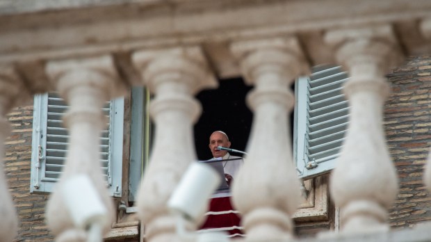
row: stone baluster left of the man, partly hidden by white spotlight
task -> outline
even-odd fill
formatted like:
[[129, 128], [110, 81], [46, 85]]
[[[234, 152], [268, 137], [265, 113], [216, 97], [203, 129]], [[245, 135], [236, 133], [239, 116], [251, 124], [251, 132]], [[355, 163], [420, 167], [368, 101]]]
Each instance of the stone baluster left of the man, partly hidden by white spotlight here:
[[[133, 63], [155, 95], [150, 115], [156, 132], [154, 147], [138, 192], [138, 216], [147, 240], [175, 241], [175, 218], [166, 206], [190, 162], [196, 160], [193, 123], [201, 113], [193, 94], [217, 81], [198, 47], [139, 51]], [[196, 227], [190, 224], [190, 229]]]

